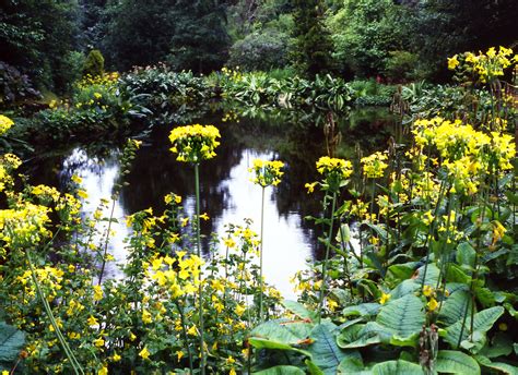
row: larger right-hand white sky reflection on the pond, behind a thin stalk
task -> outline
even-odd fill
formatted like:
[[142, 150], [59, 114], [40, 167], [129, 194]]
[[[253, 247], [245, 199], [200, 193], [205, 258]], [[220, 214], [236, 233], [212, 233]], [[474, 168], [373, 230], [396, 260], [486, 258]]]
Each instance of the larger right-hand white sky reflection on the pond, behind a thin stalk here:
[[[228, 186], [231, 196], [229, 207], [217, 218], [220, 237], [224, 234], [225, 223], [243, 225], [245, 218], [252, 219], [252, 229], [260, 232], [261, 188], [250, 181], [248, 168], [252, 159], [272, 159], [272, 156], [245, 149], [240, 162], [231, 170], [229, 178], [221, 182], [221, 186]], [[310, 245], [301, 229], [301, 216], [293, 213], [281, 218], [274, 199], [272, 188], [267, 188], [262, 271], [267, 282], [275, 286], [285, 298], [293, 299], [293, 286], [289, 279], [305, 268], [305, 259], [311, 254]]]

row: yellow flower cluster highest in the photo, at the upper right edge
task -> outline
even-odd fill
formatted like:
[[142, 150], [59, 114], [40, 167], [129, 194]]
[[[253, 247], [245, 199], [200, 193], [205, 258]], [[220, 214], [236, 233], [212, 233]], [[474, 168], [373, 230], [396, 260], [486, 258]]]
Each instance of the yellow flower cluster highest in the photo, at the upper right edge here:
[[[464, 62], [463, 64], [459, 58]], [[501, 46], [498, 52], [495, 47], [491, 47], [485, 53], [464, 52], [448, 58], [448, 69], [466, 69], [476, 74], [482, 83], [487, 83], [504, 75], [504, 70], [516, 62], [518, 62], [518, 56], [513, 53], [513, 49]]]

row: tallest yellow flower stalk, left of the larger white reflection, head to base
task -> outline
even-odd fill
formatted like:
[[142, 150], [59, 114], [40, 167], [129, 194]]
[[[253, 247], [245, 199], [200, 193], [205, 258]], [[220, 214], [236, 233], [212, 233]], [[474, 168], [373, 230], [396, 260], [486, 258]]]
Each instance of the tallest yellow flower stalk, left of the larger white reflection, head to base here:
[[[201, 258], [201, 234], [200, 234], [200, 162], [212, 159], [215, 156], [214, 149], [220, 142], [220, 131], [214, 125], [187, 125], [173, 129], [169, 141], [173, 144], [170, 150], [178, 154], [177, 160], [190, 162], [195, 167], [195, 190], [196, 190], [196, 252]], [[203, 327], [203, 273], [200, 270], [199, 278], [199, 328], [200, 328], [200, 371], [205, 373], [207, 355]]]

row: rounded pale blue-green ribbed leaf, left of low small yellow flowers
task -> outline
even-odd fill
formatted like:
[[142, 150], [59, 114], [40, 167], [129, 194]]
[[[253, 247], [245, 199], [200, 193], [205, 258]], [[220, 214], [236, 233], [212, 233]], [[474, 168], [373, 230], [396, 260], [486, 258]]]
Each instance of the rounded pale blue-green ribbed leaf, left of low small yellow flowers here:
[[405, 338], [419, 334], [425, 318], [423, 302], [413, 294], [407, 294], [382, 306], [376, 323]]

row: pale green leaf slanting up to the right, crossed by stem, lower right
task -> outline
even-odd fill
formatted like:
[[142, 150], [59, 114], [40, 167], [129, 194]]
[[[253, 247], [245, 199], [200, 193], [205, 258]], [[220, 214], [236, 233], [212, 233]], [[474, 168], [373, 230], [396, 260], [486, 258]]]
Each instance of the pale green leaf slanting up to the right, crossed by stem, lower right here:
[[[493, 327], [493, 324], [504, 314], [504, 307], [495, 306], [491, 309], [486, 309], [476, 313], [474, 315], [473, 320], [473, 332], [479, 332], [481, 335], [485, 334]], [[463, 318], [459, 319], [454, 325], [446, 328], [445, 340], [452, 347], [457, 348], [459, 343], [460, 332], [462, 330], [462, 320]], [[470, 328], [471, 328], [471, 317], [468, 317], [464, 323], [464, 328], [462, 330], [462, 337], [460, 341], [463, 341], [470, 336]], [[478, 337], [481, 335], [473, 335], [473, 340], [478, 340]]]

